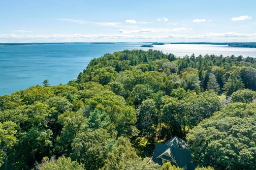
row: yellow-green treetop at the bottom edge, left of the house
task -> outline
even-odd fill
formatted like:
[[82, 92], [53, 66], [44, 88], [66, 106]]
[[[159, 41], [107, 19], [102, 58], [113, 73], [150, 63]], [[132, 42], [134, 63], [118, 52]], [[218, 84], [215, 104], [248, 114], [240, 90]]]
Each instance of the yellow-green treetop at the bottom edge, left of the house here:
[[85, 170], [83, 164], [77, 161], [71, 161], [69, 157], [60, 157], [57, 160], [54, 158], [44, 158], [40, 165], [36, 166], [37, 170]]

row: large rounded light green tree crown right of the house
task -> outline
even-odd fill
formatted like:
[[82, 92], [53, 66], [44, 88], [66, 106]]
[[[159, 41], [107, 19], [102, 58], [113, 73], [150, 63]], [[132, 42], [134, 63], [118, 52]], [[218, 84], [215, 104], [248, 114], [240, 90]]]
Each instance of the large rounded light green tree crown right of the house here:
[[256, 105], [233, 103], [188, 134], [192, 157], [215, 169], [256, 169]]

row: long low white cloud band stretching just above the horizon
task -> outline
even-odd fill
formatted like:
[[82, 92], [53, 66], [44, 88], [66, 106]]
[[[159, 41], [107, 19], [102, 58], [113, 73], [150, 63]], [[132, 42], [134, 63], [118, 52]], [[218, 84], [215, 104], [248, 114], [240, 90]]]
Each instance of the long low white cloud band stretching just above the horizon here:
[[256, 33], [243, 34], [237, 32], [224, 33], [207, 33], [199, 35], [179, 35], [179, 34], [164, 34], [164, 35], [147, 35], [147, 34], [51, 34], [51, 35], [17, 35], [17, 34], [0, 34], [0, 39], [22, 39], [22, 40], [79, 40], [86, 41], [91, 39], [229, 39], [229, 40], [256, 40]]

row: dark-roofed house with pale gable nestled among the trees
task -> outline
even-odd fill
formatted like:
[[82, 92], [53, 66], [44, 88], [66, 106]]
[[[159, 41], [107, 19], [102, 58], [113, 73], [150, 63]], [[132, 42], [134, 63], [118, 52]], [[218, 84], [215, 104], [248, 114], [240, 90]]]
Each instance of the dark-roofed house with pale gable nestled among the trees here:
[[158, 142], [153, 153], [152, 161], [159, 165], [165, 162], [171, 162], [172, 165], [183, 168], [183, 170], [194, 170], [196, 167], [191, 163], [188, 145], [177, 136], [174, 136], [165, 143]]

